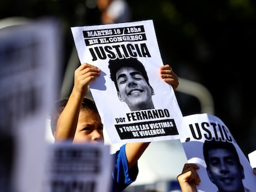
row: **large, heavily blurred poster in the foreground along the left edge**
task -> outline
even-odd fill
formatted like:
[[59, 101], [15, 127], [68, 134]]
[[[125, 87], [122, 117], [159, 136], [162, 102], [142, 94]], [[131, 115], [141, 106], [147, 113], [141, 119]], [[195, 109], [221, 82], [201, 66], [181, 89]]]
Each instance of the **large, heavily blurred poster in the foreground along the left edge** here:
[[59, 38], [54, 19], [0, 28], [0, 191], [41, 191]]

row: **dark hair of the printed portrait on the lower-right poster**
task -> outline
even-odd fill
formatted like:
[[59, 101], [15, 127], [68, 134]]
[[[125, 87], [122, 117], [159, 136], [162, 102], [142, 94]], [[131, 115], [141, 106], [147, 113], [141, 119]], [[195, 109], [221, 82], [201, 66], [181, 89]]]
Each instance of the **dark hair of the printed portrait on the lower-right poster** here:
[[205, 143], [203, 143], [203, 156], [205, 158], [205, 163], [207, 164], [207, 167], [209, 166], [208, 151], [211, 149], [227, 149], [228, 151], [234, 154], [235, 160], [237, 161], [239, 166], [242, 167], [241, 162], [239, 160], [239, 156], [233, 143], [230, 143], [228, 141], [205, 140]]

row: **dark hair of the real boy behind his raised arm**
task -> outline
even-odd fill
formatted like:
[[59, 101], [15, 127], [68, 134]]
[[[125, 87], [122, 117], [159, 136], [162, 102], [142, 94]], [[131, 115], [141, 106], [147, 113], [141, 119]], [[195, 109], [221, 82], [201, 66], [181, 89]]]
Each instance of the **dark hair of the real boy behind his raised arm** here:
[[[61, 115], [61, 112], [63, 111], [64, 107], [67, 104], [67, 101], [69, 101], [69, 98], [58, 99], [54, 103], [54, 112], [51, 115], [51, 133], [53, 133], [53, 135], [54, 135], [54, 132], [56, 131], [59, 115]], [[98, 109], [95, 105], [95, 102], [92, 99], [87, 97], [83, 98], [83, 102], [80, 107], [80, 110], [87, 110], [87, 111], [93, 111], [95, 113], [98, 113]]]

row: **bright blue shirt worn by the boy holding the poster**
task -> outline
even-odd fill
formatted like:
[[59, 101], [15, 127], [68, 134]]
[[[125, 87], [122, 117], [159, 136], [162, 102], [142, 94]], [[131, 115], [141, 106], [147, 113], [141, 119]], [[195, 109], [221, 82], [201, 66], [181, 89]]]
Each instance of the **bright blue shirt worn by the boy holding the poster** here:
[[122, 145], [119, 151], [111, 154], [111, 156], [114, 158], [112, 192], [120, 192], [136, 180], [139, 173], [138, 164], [136, 162], [130, 170], [128, 169], [126, 144]]

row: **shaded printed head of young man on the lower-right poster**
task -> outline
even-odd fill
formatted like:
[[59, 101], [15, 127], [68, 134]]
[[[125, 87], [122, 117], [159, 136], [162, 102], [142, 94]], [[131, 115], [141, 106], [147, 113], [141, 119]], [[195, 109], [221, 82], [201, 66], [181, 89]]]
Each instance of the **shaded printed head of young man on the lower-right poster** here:
[[208, 177], [218, 191], [245, 191], [244, 168], [232, 143], [205, 141], [203, 150]]

